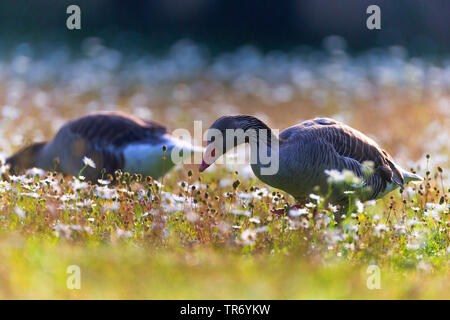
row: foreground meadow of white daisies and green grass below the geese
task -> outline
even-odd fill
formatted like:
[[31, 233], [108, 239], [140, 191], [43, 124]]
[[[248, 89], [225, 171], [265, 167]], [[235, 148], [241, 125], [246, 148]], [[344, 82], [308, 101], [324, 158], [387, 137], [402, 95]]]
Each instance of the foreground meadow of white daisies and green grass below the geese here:
[[[230, 177], [239, 183], [219, 184]], [[274, 215], [288, 195], [223, 169], [199, 180], [181, 168], [162, 187], [127, 174], [104, 189], [74, 190], [59, 175], [14, 180], [5, 175], [0, 193], [1, 299], [450, 297], [448, 187], [437, 170], [342, 225], [313, 199], [307, 215]], [[80, 290], [66, 286], [70, 265]], [[370, 265], [381, 289], [367, 287]]]

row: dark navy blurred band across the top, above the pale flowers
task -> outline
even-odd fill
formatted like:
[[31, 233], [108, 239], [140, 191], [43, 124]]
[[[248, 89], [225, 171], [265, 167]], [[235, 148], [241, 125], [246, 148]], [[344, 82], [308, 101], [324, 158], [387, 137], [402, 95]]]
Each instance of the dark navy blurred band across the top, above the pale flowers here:
[[[82, 10], [82, 29], [65, 28], [67, 6]], [[365, 28], [369, 5], [382, 11], [382, 28]], [[17, 0], [0, 4], [2, 42], [79, 44], [100, 37], [107, 45], [162, 51], [180, 38], [207, 44], [212, 52], [256, 45], [264, 50], [321, 46], [337, 34], [349, 50], [401, 45], [412, 53], [450, 48], [446, 0]]]

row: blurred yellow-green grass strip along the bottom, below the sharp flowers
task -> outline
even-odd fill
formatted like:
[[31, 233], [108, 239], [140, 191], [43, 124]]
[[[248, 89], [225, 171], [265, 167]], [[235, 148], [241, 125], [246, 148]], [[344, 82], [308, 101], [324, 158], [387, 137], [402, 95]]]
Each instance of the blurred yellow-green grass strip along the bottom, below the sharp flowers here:
[[[2, 299], [444, 299], [449, 292], [442, 270], [392, 272], [386, 265], [381, 268], [381, 289], [369, 290], [366, 266], [339, 259], [322, 265], [299, 254], [16, 243], [21, 240], [2, 241], [2, 246], [14, 244], [2, 248]], [[81, 268], [80, 290], [66, 288], [71, 264]]]

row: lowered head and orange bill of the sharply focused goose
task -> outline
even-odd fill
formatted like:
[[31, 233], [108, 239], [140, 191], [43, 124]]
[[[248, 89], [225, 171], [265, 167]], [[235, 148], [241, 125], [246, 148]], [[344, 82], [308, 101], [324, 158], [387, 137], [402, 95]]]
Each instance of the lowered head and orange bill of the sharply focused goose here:
[[270, 128], [253, 116], [223, 116], [217, 119], [206, 132], [207, 145], [199, 167], [200, 172], [206, 170], [227, 151], [257, 139], [260, 129], [267, 130], [270, 136]]

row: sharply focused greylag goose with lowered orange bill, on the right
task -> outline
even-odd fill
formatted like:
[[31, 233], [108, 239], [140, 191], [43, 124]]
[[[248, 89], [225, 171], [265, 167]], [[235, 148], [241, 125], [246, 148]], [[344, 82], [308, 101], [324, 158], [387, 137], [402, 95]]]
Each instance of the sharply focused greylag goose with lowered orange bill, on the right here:
[[[225, 142], [228, 138], [215, 139], [217, 135], [214, 132], [226, 137], [227, 133], [229, 135], [239, 129], [244, 133], [244, 139], [233, 139], [231, 143]], [[328, 202], [348, 203], [346, 190], [337, 187], [330, 189], [330, 174], [333, 172], [347, 170], [360, 178], [359, 185], [347, 187], [364, 190], [359, 194], [364, 201], [381, 198], [396, 188], [403, 188], [410, 181], [422, 180], [420, 176], [395, 164], [393, 158], [375, 141], [329, 118], [304, 121], [285, 129], [276, 137], [265, 123], [253, 116], [224, 116], [212, 124], [207, 135], [209, 141], [200, 172], [228, 150], [248, 142], [252, 159], [254, 153], [258, 154], [251, 163], [254, 174], [264, 183], [291, 194], [299, 203], [304, 203], [317, 190], [327, 195]], [[268, 155], [277, 157], [278, 168], [273, 174], [262, 173], [262, 169], [267, 167], [267, 162], [260, 159], [260, 155], [264, 154], [260, 150], [262, 147], [266, 148], [264, 152]]]

